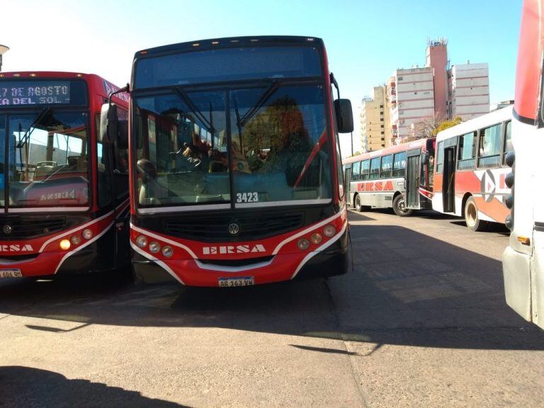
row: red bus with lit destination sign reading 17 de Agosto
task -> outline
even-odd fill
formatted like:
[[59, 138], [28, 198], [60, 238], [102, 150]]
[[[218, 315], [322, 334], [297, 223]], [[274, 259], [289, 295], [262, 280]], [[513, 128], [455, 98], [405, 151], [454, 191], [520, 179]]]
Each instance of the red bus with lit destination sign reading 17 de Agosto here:
[[[96, 137], [115, 89], [92, 74], [0, 73], [0, 277], [109, 271], [130, 259], [128, 151]], [[126, 123], [128, 95], [115, 102]]]

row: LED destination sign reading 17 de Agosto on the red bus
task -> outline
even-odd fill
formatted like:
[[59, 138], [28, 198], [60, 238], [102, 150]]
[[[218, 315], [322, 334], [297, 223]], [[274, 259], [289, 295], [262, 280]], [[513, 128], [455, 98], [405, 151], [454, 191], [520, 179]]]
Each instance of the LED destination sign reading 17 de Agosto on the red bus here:
[[0, 106], [69, 105], [70, 81], [0, 81]]

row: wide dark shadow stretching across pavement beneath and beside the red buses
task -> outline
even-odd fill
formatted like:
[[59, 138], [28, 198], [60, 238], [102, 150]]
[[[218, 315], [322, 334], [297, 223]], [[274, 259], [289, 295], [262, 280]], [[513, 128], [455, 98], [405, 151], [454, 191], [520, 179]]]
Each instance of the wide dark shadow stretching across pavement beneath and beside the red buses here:
[[41, 318], [22, 324], [58, 336], [95, 324], [212, 327], [378, 348], [544, 350], [543, 331], [506, 305], [500, 261], [395, 225], [352, 225], [351, 236], [345, 276], [246, 288], [19, 280], [0, 285], [0, 314]]

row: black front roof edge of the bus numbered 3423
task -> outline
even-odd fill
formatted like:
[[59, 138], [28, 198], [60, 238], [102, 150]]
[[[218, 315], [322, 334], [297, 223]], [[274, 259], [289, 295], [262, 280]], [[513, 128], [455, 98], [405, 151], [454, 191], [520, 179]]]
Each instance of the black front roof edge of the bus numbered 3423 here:
[[208, 40], [195, 40], [189, 42], [178, 42], [177, 44], [162, 45], [160, 47], [148, 48], [136, 52], [135, 58], [150, 54], [159, 54], [169, 51], [181, 50], [210, 50], [214, 47], [241, 47], [250, 45], [256, 47], [259, 45], [285, 45], [292, 44], [317, 44], [323, 47], [323, 40], [317, 37], [302, 37], [297, 35], [255, 35], [253, 37], [227, 37], [227, 38], [210, 38]]

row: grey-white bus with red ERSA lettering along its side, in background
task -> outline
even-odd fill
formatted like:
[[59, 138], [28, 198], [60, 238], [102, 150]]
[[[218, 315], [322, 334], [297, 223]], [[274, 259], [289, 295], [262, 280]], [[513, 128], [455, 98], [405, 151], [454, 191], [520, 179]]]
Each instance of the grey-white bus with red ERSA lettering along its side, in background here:
[[392, 208], [400, 217], [431, 209], [435, 140], [419, 139], [344, 159], [348, 203]]

